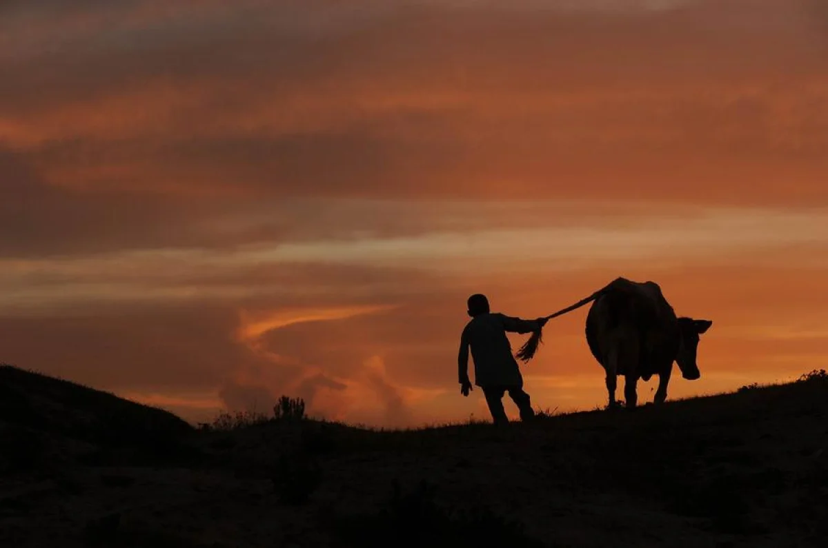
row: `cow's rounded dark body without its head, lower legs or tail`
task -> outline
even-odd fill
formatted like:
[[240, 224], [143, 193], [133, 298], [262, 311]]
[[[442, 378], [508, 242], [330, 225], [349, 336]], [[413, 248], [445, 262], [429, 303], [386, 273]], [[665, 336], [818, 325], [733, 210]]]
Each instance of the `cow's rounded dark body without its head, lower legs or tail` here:
[[590, 306], [586, 340], [590, 352], [604, 367], [609, 345], [618, 340], [619, 334], [638, 339], [638, 371], [643, 377], [672, 367], [678, 349], [676, 313], [655, 282], [618, 278]]

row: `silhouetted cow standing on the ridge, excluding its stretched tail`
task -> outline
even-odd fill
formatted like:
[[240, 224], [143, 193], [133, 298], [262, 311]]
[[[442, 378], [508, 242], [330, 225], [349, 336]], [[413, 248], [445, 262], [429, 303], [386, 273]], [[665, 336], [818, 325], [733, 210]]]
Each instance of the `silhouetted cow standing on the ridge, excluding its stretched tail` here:
[[606, 372], [610, 407], [617, 406], [615, 388], [619, 375], [624, 377], [628, 409], [633, 409], [638, 401], [639, 378], [647, 382], [652, 375], [658, 375], [653, 402], [661, 404], [667, 399], [673, 362], [687, 380], [701, 376], [696, 364], [699, 339], [713, 322], [676, 317], [657, 283], [619, 277], [588, 300], [593, 303], [586, 317], [586, 341]]

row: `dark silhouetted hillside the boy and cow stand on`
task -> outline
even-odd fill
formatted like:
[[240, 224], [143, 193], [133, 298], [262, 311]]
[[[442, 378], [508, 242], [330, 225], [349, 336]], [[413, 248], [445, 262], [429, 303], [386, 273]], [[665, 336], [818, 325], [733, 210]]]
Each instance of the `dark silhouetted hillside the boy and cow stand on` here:
[[[65, 407], [13, 425], [18, 445], [4, 440], [2, 546], [724, 548], [823, 546], [828, 534], [824, 372], [633, 412], [400, 431], [290, 414], [190, 430], [111, 395], [83, 392], [84, 403], [55, 396], [54, 379], [26, 378], [14, 390], [27, 412]], [[12, 403], [0, 406], [9, 421]], [[141, 417], [124, 429], [164, 421], [176, 435], [120, 452], [107, 436], [75, 437], [87, 430], [71, 417], [118, 406]], [[59, 443], [79, 445], [64, 459], [36, 457]]]

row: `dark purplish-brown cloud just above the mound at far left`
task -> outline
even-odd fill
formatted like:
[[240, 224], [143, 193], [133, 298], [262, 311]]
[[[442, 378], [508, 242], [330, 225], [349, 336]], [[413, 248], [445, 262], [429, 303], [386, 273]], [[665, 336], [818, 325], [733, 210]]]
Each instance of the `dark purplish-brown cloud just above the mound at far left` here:
[[232, 368], [262, 363], [233, 341], [234, 320], [204, 304], [4, 315], [2, 360], [128, 392], [214, 389]]

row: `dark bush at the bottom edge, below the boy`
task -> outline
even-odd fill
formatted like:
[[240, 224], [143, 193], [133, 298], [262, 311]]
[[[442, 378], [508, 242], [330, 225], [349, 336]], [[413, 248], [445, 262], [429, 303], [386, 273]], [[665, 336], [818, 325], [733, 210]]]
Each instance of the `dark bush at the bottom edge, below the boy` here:
[[426, 480], [408, 492], [395, 480], [377, 513], [335, 518], [337, 546], [544, 546], [527, 536], [520, 522], [485, 506], [446, 508], [437, 502], [436, 493], [436, 486]]

